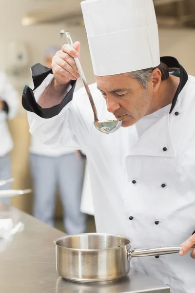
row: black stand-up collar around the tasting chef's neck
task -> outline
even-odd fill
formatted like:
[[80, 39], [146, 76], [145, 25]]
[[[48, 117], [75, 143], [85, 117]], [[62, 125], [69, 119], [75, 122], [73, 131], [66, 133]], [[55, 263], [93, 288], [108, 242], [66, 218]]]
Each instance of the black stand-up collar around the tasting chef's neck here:
[[179, 62], [176, 60], [176, 58], [174, 58], [174, 57], [169, 57], [169, 56], [161, 57], [160, 61], [162, 61], [163, 63], [165, 63], [169, 67], [169, 71], [171, 71], [171, 69], [173, 69], [173, 70], [179, 69], [180, 70], [180, 82], [177, 87], [176, 94], [175, 94], [173, 101], [172, 101], [171, 110], [169, 112], [169, 113], [171, 113], [176, 105], [178, 95], [180, 94], [181, 90], [183, 89], [183, 87], [185, 86], [185, 84], [188, 81], [188, 74], [185, 71], [185, 69], [183, 68], [183, 66], [181, 66], [179, 64]]

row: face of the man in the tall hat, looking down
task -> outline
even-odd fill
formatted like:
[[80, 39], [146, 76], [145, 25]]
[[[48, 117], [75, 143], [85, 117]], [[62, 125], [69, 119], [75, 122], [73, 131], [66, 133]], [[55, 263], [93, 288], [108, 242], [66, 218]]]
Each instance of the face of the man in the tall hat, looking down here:
[[153, 71], [147, 88], [143, 88], [130, 74], [96, 76], [98, 89], [106, 101], [108, 111], [117, 119], [124, 118], [123, 127], [131, 126], [151, 113], [153, 96], [161, 80], [161, 75], [156, 70], [158, 69]]

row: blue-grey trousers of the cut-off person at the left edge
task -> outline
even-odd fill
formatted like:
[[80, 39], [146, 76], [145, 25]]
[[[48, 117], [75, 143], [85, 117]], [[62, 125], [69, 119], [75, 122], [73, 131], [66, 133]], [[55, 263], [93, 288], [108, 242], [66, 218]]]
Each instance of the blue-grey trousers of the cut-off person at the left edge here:
[[[11, 170], [11, 159], [10, 159], [10, 155], [7, 154], [3, 157], [0, 157], [0, 180], [3, 179], [9, 179], [12, 177], [12, 170]], [[7, 183], [3, 186], [0, 186], [0, 190], [5, 190], [5, 189], [11, 189], [12, 188], [12, 184], [11, 183]], [[10, 204], [11, 203], [11, 198], [7, 197], [7, 198], [1, 198], [0, 199], [1, 202], [5, 203], [5, 204]]]

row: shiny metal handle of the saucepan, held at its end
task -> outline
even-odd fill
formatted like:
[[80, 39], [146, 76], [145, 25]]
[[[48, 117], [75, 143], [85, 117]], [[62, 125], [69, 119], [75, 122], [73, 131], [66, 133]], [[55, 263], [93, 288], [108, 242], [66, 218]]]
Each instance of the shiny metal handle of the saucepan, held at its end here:
[[[191, 250], [194, 250], [194, 249], [195, 247], [191, 248]], [[135, 249], [135, 250], [130, 249], [127, 251], [127, 255], [129, 257], [155, 256], [155, 255], [178, 253], [180, 250], [181, 250], [181, 246], [145, 248], [145, 249]]]

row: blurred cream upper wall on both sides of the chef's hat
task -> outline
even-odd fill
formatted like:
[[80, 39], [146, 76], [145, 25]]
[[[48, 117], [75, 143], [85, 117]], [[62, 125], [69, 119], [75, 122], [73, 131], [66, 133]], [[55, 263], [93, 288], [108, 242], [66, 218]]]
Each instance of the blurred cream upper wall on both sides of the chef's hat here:
[[[30, 65], [42, 63], [45, 49], [50, 45], [61, 46], [66, 39], [60, 39], [59, 31], [67, 28], [64, 23], [52, 23], [22, 27], [21, 18], [29, 10], [42, 6], [44, 1], [38, 0], [0, 0], [0, 68], [5, 68], [7, 46], [10, 41], [25, 42], [29, 49]], [[68, 28], [73, 41], [81, 42], [81, 61], [89, 83], [94, 76], [89, 56], [86, 32], [83, 27]], [[161, 56], [172, 55], [190, 74], [195, 74], [195, 30], [159, 29]], [[26, 77], [28, 80], [29, 77]]]

